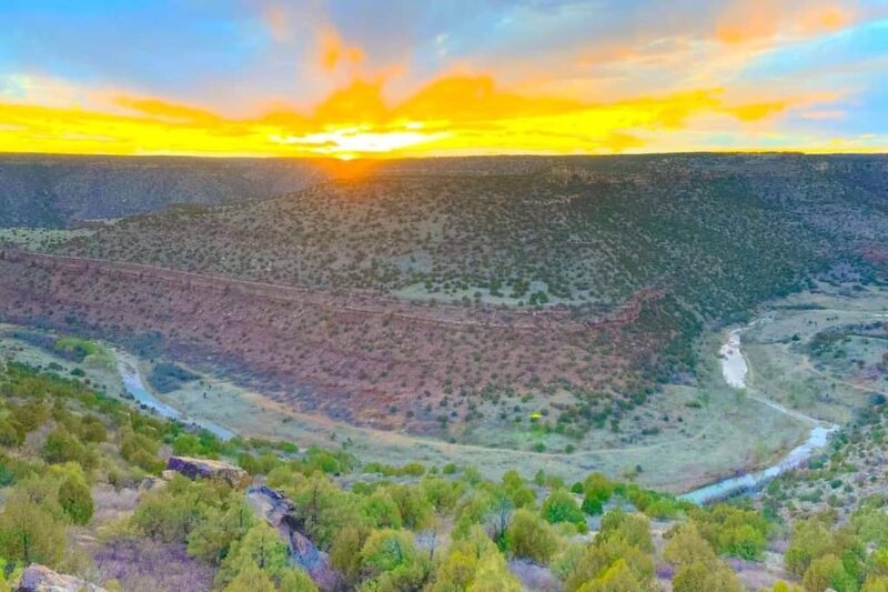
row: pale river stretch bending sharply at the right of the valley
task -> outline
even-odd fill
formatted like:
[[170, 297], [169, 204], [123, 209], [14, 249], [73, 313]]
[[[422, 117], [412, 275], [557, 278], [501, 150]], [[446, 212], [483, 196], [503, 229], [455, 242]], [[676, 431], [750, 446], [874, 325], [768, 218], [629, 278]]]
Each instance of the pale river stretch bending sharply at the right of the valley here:
[[[749, 370], [746, 358], [740, 348], [740, 335], [745, 329], [735, 329], [728, 333], [727, 341], [718, 353], [722, 357], [722, 375], [730, 387], [735, 389], [746, 389], [746, 374]], [[797, 420], [813, 424], [808, 439], [797, 445], [784, 456], [780, 462], [767, 469], [731, 476], [722, 481], [716, 481], [703, 488], [685, 493], [680, 498], [694, 503], [704, 504], [717, 500], [724, 500], [745, 491], [755, 491], [780, 473], [800, 466], [808, 461], [817, 451], [826, 446], [829, 434], [838, 430], [838, 425], [826, 425], [823, 422], [809, 418], [804, 413], [787, 409], [779, 403], [768, 399], [754, 397], [754, 399], [771, 409], [785, 413]]]

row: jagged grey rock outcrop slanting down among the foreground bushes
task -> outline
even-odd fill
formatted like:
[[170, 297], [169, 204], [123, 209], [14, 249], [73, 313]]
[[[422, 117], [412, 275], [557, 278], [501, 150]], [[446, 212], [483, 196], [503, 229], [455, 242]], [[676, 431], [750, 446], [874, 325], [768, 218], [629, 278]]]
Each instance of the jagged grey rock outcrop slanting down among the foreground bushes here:
[[320, 589], [333, 590], [336, 586], [339, 575], [330, 564], [330, 556], [300, 532], [302, 523], [290, 500], [279, 491], [262, 485], [250, 488], [246, 501], [256, 515], [278, 530], [294, 565], [305, 570]]

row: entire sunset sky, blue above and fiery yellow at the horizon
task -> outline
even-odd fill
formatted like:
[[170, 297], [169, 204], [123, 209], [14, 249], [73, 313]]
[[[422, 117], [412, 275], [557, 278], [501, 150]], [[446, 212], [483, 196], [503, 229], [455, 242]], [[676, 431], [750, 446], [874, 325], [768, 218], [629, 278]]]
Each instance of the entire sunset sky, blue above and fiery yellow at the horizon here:
[[2, 0], [0, 151], [888, 152], [888, 0]]

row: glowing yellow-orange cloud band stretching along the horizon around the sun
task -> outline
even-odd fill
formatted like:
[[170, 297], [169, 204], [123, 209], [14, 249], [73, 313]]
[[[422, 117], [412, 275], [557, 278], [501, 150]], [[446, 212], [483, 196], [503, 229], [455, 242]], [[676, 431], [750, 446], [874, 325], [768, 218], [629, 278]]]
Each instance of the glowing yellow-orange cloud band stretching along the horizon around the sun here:
[[748, 124], [824, 102], [726, 103], [719, 88], [587, 102], [517, 93], [491, 76], [438, 78], [394, 102], [383, 90], [383, 80], [355, 81], [310, 111], [278, 109], [243, 119], [120, 92], [97, 93], [113, 100], [91, 109], [0, 102], [0, 151], [342, 159], [615, 153], [700, 133], [694, 126], [702, 120]]

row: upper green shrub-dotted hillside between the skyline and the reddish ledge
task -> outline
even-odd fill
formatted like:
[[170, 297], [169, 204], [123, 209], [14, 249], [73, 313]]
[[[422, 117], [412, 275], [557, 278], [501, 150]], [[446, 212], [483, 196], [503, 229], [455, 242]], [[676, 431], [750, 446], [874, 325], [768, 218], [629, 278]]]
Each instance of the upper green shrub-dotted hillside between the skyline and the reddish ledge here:
[[478, 160], [137, 217], [62, 251], [438, 301], [613, 304], [656, 288], [706, 319], [817, 273], [868, 279], [888, 254], [881, 157]]

